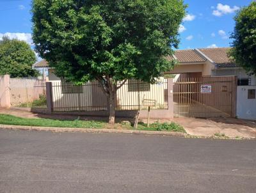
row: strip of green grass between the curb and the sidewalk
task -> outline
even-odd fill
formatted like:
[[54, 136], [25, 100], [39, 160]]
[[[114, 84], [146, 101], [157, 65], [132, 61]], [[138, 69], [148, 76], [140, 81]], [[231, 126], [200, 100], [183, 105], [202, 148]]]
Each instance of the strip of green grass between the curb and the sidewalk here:
[[[69, 127], [69, 128], [109, 128], [108, 123], [104, 121], [63, 121], [51, 119], [33, 119], [33, 118], [20, 118], [9, 114], [0, 114], [0, 124], [3, 125], [24, 125], [24, 126], [37, 126], [37, 127]], [[114, 128], [129, 129], [134, 128], [131, 125], [122, 125], [117, 123]], [[138, 123], [138, 130], [152, 130], [152, 131], [170, 131], [170, 132], [184, 132], [184, 128], [177, 123], [152, 123], [147, 127], [145, 123]]]

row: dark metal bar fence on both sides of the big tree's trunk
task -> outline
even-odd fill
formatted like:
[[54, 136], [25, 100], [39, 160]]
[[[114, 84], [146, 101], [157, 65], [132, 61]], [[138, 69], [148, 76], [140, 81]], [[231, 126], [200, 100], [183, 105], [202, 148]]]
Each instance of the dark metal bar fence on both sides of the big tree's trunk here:
[[[53, 111], [106, 111], [108, 100], [101, 87], [97, 81], [82, 86], [54, 81], [52, 82]], [[156, 84], [133, 80], [125, 82], [117, 91], [116, 110], [138, 110], [143, 98], [156, 102], [152, 109], [168, 109], [167, 79], [159, 79]]]

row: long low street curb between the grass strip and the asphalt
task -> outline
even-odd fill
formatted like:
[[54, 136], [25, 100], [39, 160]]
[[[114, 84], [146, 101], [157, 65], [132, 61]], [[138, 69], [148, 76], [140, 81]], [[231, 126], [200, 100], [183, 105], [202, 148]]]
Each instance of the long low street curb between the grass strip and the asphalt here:
[[10, 130], [34, 130], [49, 132], [80, 132], [80, 133], [108, 133], [108, 134], [145, 134], [145, 135], [166, 135], [173, 137], [186, 137], [188, 134], [182, 132], [161, 132], [147, 130], [118, 130], [106, 128], [64, 128], [64, 127], [34, 127], [21, 125], [0, 125], [0, 129]]

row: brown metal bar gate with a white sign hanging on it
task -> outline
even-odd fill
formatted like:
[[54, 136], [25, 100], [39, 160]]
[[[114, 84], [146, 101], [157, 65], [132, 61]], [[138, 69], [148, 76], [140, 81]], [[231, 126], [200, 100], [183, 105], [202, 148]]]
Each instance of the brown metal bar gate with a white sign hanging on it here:
[[234, 115], [236, 77], [188, 77], [173, 84], [175, 117], [214, 118]]

